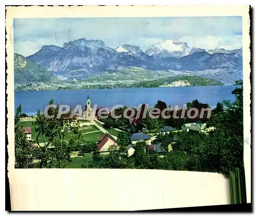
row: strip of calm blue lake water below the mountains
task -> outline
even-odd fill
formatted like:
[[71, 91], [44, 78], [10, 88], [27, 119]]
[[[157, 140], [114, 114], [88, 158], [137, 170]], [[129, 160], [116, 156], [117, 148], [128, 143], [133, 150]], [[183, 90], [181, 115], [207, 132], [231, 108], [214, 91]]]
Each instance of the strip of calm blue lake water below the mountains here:
[[91, 104], [98, 107], [112, 107], [122, 104], [127, 107], [138, 107], [139, 104], [154, 106], [158, 100], [167, 105], [182, 106], [197, 99], [201, 103], [216, 106], [223, 100], [234, 101], [231, 91], [233, 85], [165, 87], [165, 88], [116, 88], [116, 89], [79, 89], [52, 91], [18, 91], [14, 93], [15, 109], [22, 104], [22, 111], [32, 115], [41, 111], [54, 99], [54, 104], [68, 104], [74, 108], [77, 104], [86, 104], [89, 92]]

